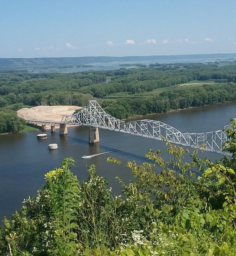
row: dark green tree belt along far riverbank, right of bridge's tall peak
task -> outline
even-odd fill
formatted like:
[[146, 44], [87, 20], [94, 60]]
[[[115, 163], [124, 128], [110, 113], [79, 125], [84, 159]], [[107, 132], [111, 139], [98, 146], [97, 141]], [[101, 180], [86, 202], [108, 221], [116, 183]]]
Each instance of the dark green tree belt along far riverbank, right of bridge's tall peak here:
[[163, 113], [171, 110], [213, 105], [236, 100], [236, 84], [203, 85], [174, 89], [158, 96], [119, 99], [115, 103], [106, 101], [102, 107], [119, 119], [149, 113]]

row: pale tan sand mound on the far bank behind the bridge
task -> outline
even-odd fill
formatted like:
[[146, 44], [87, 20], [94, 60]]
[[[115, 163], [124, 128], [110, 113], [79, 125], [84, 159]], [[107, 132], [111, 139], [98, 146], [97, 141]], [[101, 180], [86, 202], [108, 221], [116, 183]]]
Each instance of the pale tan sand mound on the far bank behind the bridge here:
[[72, 115], [78, 106], [37, 106], [33, 108], [21, 108], [17, 116], [28, 120], [60, 121], [63, 116]]

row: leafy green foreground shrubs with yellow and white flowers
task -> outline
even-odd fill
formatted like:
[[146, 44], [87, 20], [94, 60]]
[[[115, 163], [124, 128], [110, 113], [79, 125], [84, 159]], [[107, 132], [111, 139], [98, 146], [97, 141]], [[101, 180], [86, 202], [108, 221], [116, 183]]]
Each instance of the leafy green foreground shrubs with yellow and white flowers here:
[[134, 179], [125, 184], [117, 178], [123, 192], [114, 198], [94, 165], [79, 183], [70, 171], [74, 161], [64, 159], [45, 175], [35, 197], [4, 218], [0, 255], [235, 256], [236, 119], [231, 121], [224, 151], [232, 158], [212, 163], [194, 151], [186, 163], [188, 150], [167, 143], [168, 162], [150, 149], [146, 163], [127, 163]]

